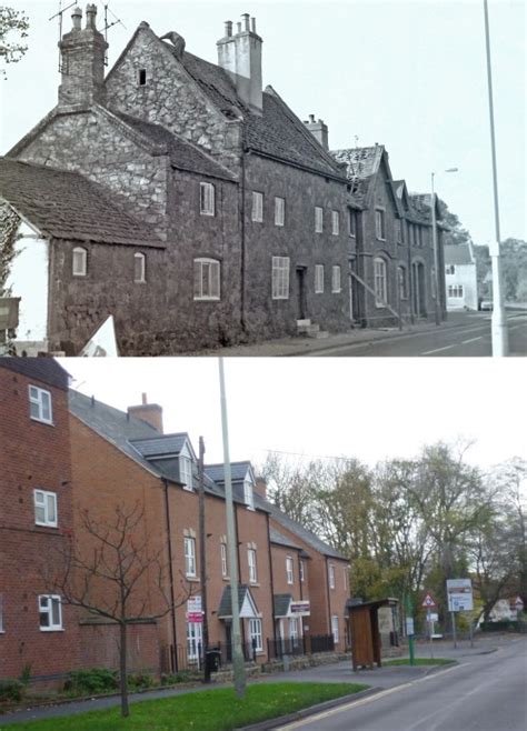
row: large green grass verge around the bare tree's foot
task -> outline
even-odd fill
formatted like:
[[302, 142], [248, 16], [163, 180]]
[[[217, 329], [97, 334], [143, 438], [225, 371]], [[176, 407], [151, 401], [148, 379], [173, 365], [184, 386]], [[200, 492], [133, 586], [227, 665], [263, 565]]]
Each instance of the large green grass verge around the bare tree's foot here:
[[261, 683], [248, 687], [242, 700], [236, 698], [231, 688], [221, 688], [132, 703], [128, 719], [121, 719], [120, 709], [112, 708], [1, 728], [2, 731], [229, 731], [366, 688], [358, 683]]

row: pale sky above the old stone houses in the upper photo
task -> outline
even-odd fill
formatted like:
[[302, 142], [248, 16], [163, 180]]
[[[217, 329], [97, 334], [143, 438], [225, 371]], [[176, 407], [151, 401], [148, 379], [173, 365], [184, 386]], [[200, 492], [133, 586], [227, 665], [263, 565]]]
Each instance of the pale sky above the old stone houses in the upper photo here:
[[[474, 241], [495, 239], [483, 0], [105, 2], [126, 26], [108, 31], [110, 68], [141, 20], [217, 62], [223, 21], [255, 16], [264, 83], [301, 119], [324, 119], [331, 149], [385, 144], [410, 191], [428, 191], [436, 172], [436, 191]], [[28, 53], [0, 81], [1, 154], [52, 109], [60, 81], [58, 20], [49, 20], [59, 0], [3, 4], [23, 9], [31, 30]], [[489, 0], [489, 19], [501, 240], [525, 240], [525, 3]]]

